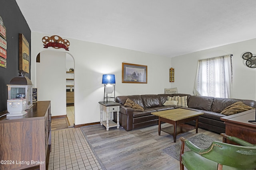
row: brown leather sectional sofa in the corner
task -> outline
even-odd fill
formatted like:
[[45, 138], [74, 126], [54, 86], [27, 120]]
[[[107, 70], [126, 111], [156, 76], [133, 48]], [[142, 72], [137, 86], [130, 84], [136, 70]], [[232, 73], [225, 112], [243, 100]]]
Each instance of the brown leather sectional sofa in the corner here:
[[[187, 96], [188, 107], [180, 106], [163, 106], [168, 96]], [[133, 111], [130, 107], [125, 107], [124, 103], [127, 99], [134, 101], [144, 108], [144, 111]], [[244, 104], [255, 107], [254, 100], [240, 100], [240, 99], [226, 99], [214, 98], [208, 96], [191, 96], [190, 94], [146, 94], [146, 95], [132, 95], [132, 96], [117, 96], [116, 102], [122, 104], [120, 106], [119, 121], [120, 125], [126, 130], [146, 127], [148, 125], [158, 124], [158, 117], [152, 115], [151, 112], [162, 111], [167, 109], [183, 108], [203, 112], [198, 121], [198, 127], [214, 131], [216, 133], [225, 133], [225, 124], [220, 120], [220, 117], [226, 115], [220, 112], [226, 107], [235, 102], [242, 101]], [[116, 116], [114, 114], [114, 120]], [[194, 121], [188, 122], [195, 125]]]

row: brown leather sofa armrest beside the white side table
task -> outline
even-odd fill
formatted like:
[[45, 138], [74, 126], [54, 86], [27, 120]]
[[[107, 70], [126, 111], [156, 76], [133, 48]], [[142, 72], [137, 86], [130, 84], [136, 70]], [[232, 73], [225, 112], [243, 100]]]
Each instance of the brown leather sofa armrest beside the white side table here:
[[126, 131], [132, 130], [133, 110], [131, 107], [120, 106], [119, 123]]

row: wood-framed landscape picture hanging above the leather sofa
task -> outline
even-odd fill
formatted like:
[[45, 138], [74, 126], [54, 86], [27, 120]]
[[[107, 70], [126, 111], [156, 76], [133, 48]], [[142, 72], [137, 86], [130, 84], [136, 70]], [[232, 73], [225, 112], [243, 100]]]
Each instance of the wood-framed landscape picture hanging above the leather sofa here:
[[122, 83], [148, 83], [148, 66], [122, 63]]

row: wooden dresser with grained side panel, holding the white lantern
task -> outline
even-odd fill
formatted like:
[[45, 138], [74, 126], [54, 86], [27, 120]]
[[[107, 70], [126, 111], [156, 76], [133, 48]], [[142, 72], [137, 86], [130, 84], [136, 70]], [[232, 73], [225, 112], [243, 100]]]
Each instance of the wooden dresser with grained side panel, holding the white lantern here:
[[[51, 150], [50, 101], [38, 101], [24, 116], [0, 117], [0, 169], [48, 168]], [[3, 111], [0, 116], [8, 113]]]

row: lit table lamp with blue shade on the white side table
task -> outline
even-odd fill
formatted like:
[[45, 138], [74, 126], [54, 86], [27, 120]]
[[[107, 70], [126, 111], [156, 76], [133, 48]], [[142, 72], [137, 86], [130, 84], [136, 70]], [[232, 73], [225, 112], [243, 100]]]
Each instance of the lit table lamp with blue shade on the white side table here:
[[[108, 99], [115, 98], [115, 85], [116, 79], [114, 74], [103, 74], [102, 76], [102, 84], [104, 84], [104, 101], [105, 99], [108, 102]], [[108, 94], [112, 94], [114, 92], [114, 97], [108, 97]], [[105, 97], [106, 94], [106, 97]]]

